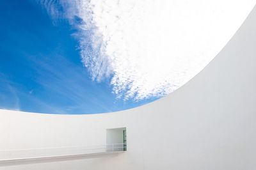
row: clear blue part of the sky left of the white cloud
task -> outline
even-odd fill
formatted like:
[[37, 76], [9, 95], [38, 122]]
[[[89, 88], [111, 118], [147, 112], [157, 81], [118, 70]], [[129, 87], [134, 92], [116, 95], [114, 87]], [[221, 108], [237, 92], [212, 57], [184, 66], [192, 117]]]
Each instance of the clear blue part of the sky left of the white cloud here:
[[76, 27], [67, 19], [52, 19], [40, 3], [3, 0], [0, 22], [1, 109], [92, 114], [156, 99], [123, 100], [112, 93], [111, 77], [92, 81], [73, 36]]

